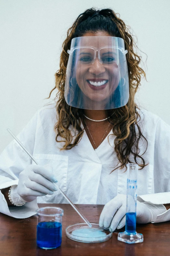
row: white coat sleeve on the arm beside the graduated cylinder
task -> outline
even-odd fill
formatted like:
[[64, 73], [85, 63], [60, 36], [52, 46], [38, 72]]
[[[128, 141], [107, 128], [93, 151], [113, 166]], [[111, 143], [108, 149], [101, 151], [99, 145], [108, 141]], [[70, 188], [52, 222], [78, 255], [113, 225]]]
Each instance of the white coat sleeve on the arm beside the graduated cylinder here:
[[[154, 185], [155, 194], [138, 196], [140, 202], [156, 205], [160, 214], [152, 223], [169, 221], [170, 209], [166, 210], [163, 204], [170, 203], [170, 126], [159, 119], [154, 146]], [[164, 208], [164, 210], [163, 210]]]

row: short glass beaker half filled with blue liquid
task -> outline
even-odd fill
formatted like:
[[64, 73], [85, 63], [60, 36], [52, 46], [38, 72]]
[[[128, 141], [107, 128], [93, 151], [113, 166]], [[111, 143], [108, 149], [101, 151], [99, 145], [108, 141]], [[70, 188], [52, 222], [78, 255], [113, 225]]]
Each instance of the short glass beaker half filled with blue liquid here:
[[36, 210], [36, 244], [43, 249], [54, 249], [62, 242], [62, 216], [64, 210], [59, 207], [43, 207]]

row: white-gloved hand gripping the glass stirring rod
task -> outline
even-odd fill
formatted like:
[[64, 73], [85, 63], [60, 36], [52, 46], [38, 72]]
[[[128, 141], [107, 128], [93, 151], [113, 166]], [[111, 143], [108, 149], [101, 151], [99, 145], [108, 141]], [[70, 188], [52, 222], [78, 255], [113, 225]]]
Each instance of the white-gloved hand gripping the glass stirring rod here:
[[51, 165], [30, 164], [19, 175], [17, 193], [24, 202], [31, 202], [37, 196], [52, 195], [57, 190], [52, 182], [57, 179]]

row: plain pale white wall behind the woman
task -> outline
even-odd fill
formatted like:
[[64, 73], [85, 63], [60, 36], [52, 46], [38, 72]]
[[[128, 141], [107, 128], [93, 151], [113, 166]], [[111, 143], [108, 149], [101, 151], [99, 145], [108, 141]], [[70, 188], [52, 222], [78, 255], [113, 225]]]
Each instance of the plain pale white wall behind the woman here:
[[148, 55], [136, 101], [170, 125], [169, 0], [0, 0], [0, 152], [12, 140], [6, 129], [18, 134], [49, 102], [66, 31], [91, 7], [112, 8], [131, 26]]

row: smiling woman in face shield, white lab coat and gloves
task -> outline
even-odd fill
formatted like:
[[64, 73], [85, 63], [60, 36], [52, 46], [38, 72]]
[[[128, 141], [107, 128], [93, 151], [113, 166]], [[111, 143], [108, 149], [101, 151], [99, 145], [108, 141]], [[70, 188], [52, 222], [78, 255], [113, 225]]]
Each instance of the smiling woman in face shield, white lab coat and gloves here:
[[170, 128], [134, 102], [145, 77], [134, 47], [111, 9], [78, 16], [55, 74], [57, 103], [37, 111], [18, 137], [39, 164], [15, 141], [1, 154], [2, 213], [24, 218], [35, 214], [37, 202], [67, 203], [52, 183], [58, 180], [73, 203], [106, 204], [100, 226], [121, 228], [126, 164], [134, 162], [140, 166], [136, 221], [170, 220]]

